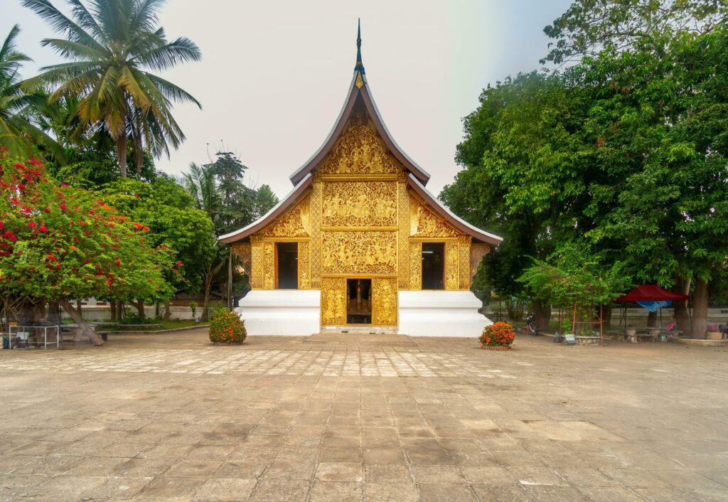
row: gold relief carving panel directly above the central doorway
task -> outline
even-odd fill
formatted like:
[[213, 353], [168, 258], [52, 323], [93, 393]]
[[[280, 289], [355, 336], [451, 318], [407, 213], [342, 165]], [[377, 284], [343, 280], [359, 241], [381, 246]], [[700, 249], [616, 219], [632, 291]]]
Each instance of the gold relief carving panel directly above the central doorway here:
[[395, 232], [322, 232], [321, 268], [328, 273], [397, 271]]

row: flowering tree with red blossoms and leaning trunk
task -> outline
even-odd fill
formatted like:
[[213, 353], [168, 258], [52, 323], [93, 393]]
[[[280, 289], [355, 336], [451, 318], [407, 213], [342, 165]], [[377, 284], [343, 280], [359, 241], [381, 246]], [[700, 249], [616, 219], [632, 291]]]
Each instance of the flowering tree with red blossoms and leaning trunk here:
[[46, 177], [41, 162], [15, 162], [0, 152], [0, 291], [29, 305], [58, 302], [96, 345], [74, 299], [173, 294], [176, 269], [167, 246], [151, 246], [149, 227], [131, 221], [92, 192]]

